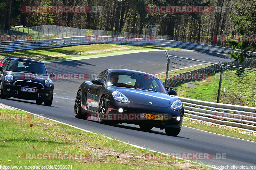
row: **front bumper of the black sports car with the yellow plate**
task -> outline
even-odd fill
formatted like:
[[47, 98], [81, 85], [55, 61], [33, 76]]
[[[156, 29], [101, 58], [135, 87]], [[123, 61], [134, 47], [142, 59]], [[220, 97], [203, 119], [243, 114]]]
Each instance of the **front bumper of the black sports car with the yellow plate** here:
[[[181, 129], [184, 110], [173, 110], [171, 107], [156, 107], [148, 105], [126, 105], [124, 103], [115, 102], [114, 106], [110, 106], [108, 103], [106, 120], [116, 123], [128, 123], [137, 125], [151, 125], [156, 128], [164, 129], [165, 127], [179, 128]], [[123, 109], [120, 113], [119, 108]], [[163, 120], [151, 120], [141, 117], [141, 113], [151, 115], [161, 115]], [[118, 117], [119, 116], [119, 117]], [[180, 120], [177, 120], [180, 117]]]

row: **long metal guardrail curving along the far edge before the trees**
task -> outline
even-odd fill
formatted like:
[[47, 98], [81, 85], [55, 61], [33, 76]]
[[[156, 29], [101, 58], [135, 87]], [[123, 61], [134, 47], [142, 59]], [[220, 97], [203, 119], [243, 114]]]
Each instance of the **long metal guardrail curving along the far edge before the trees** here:
[[[84, 44], [120, 44], [120, 45], [138, 45], [138, 46], [160, 46], [160, 47], [175, 47], [184, 48], [196, 51], [204, 52], [214, 52], [222, 54], [230, 54], [231, 51], [239, 52], [240, 50], [196, 44], [190, 42], [173, 41], [173, 40], [160, 40], [160, 39], [144, 39], [141, 42], [137, 38], [130, 38], [130, 41], [101, 41], [92, 42], [88, 41], [88, 36], [80, 37], [66, 37], [66, 38], [55, 38], [55, 39], [42, 39], [42, 40], [22, 40], [22, 41], [4, 41], [0, 42], [0, 52], [4, 51], [16, 51], [16, 50], [27, 50], [36, 48], [55, 48], [55, 47], [65, 47], [72, 45], [84, 45]], [[98, 36], [99, 37], [99, 36]], [[105, 37], [105, 36], [102, 36]], [[132, 41], [134, 40], [134, 41]], [[135, 41], [136, 40], [136, 41]], [[256, 55], [256, 52], [250, 52], [252, 55]]]

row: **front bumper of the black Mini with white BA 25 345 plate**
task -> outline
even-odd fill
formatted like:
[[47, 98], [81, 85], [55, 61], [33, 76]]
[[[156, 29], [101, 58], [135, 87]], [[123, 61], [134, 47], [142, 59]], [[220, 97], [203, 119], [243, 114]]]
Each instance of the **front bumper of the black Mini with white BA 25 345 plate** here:
[[[9, 98], [9, 97], [14, 97], [18, 99], [24, 99], [24, 100], [50, 100], [52, 95], [53, 95], [53, 86], [52, 88], [35, 88], [36, 92], [22, 92], [21, 87], [22, 86], [17, 86], [13, 85], [12, 83], [3, 83], [3, 93], [4, 96]], [[34, 87], [29, 87], [29, 88], [34, 88]], [[7, 89], [10, 89], [7, 91]], [[47, 96], [48, 94], [48, 96]]]

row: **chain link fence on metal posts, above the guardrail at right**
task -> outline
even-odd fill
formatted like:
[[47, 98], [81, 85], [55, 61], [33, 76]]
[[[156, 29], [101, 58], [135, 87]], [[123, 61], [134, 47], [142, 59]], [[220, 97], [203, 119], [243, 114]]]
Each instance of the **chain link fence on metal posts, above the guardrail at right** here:
[[195, 60], [168, 53], [166, 88], [177, 96], [243, 106], [256, 106], [256, 61]]

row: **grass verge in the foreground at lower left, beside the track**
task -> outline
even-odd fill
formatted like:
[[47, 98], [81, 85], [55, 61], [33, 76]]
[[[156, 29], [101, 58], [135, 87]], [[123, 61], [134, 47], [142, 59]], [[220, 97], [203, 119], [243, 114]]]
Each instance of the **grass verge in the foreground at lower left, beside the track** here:
[[[72, 169], [207, 169], [205, 166], [176, 159], [146, 159], [145, 155], [152, 152], [108, 139], [100, 134], [87, 133], [21, 111], [4, 109], [0, 111], [2, 117], [0, 165], [2, 166], [69, 165]], [[7, 114], [25, 114], [29, 120], [4, 120]], [[89, 158], [23, 159], [26, 158], [24, 156], [26, 153], [86, 153]]]

